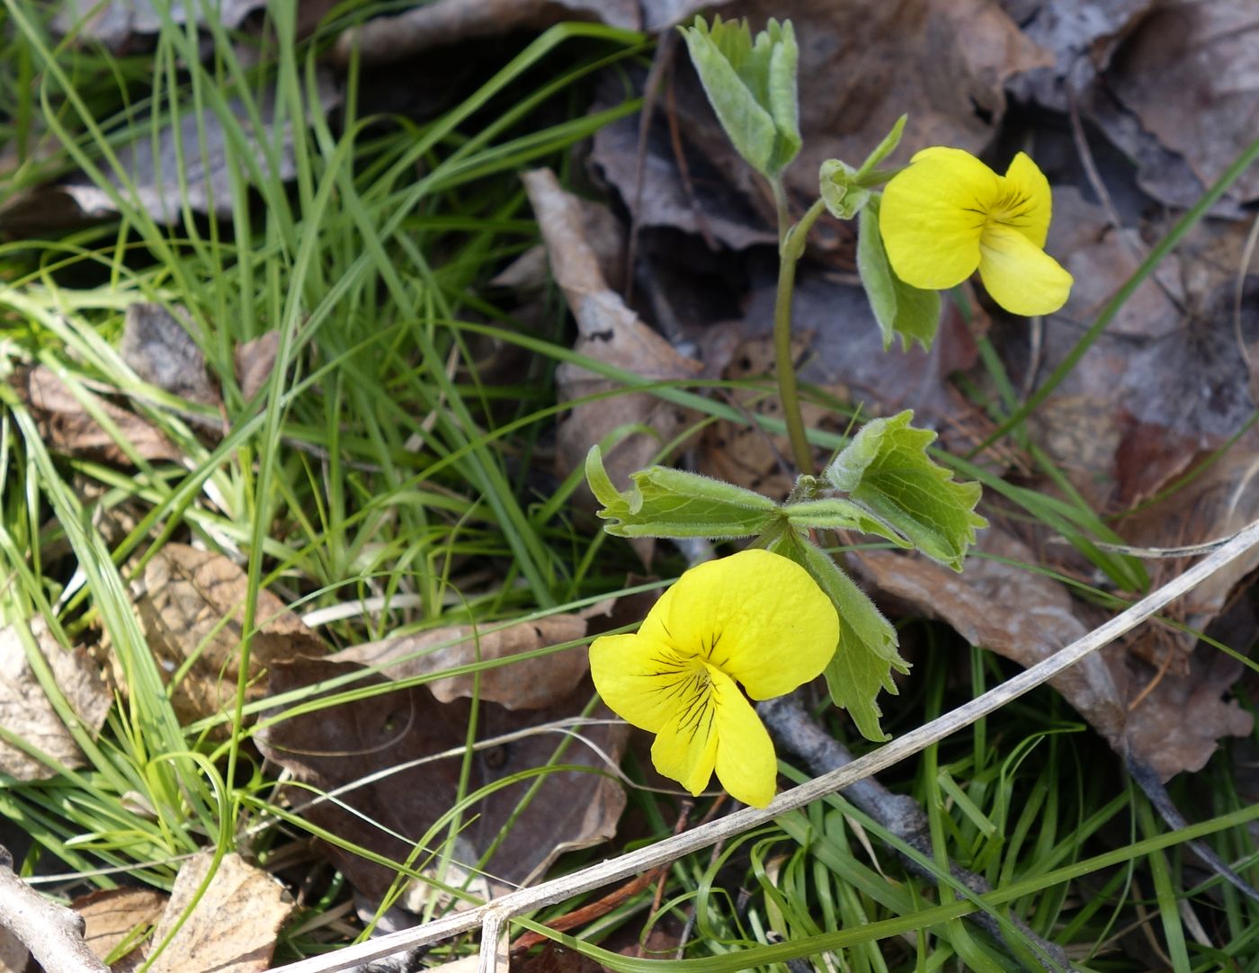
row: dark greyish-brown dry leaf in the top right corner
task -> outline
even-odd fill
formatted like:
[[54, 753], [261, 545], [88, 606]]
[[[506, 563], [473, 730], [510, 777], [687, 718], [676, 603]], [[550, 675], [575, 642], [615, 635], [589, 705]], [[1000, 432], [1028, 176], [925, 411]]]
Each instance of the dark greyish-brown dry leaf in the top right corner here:
[[[1160, 4], [1119, 49], [1107, 83], [1162, 145], [1211, 185], [1259, 127], [1259, 9], [1249, 0]], [[1231, 190], [1259, 196], [1251, 167]]]

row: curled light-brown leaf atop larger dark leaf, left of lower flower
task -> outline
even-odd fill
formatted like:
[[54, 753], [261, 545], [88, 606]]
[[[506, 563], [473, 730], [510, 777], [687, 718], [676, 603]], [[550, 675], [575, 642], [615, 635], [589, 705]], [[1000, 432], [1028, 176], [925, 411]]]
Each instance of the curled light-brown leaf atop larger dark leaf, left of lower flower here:
[[[575, 642], [584, 636], [584, 618], [559, 614], [481, 632], [480, 636], [472, 626], [434, 628], [418, 636], [354, 646], [329, 656], [329, 660], [364, 666], [384, 665], [385, 676], [403, 680], [467, 666], [478, 658], [482, 662], [509, 658], [560, 642]], [[417, 655], [421, 652], [423, 655]], [[413, 658], [404, 658], [407, 656]], [[481, 672], [481, 699], [509, 710], [540, 710], [572, 694], [589, 668], [585, 646], [488, 668]], [[451, 702], [472, 697], [473, 677], [472, 673], [447, 676], [426, 685], [438, 702]]]

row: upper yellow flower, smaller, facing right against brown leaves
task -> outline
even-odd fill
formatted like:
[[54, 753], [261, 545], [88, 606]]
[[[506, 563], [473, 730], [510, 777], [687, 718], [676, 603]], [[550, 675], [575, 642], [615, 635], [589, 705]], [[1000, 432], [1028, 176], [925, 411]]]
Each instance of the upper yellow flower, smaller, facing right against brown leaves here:
[[1020, 152], [1003, 176], [961, 149], [924, 149], [888, 183], [879, 229], [896, 276], [940, 291], [980, 268], [992, 300], [1016, 315], [1066, 303], [1071, 274], [1045, 253], [1049, 180]]

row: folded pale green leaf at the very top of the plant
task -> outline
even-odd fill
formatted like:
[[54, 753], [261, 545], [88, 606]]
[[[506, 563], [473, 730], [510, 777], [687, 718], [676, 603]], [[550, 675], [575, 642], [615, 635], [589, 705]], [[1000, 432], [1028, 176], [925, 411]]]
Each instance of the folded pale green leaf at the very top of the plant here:
[[745, 20], [704, 18], [679, 28], [718, 121], [739, 155], [774, 179], [799, 151], [796, 72], [799, 48], [791, 21], [771, 19], [753, 42]]

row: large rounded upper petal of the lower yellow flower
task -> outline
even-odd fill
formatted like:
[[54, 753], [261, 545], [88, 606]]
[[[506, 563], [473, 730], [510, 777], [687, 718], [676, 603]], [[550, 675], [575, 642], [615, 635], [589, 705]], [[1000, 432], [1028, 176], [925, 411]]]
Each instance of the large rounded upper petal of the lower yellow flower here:
[[838, 644], [840, 619], [808, 571], [752, 549], [691, 568], [641, 631], [680, 656], [703, 657], [742, 682], [749, 696], [767, 700], [826, 668]]

